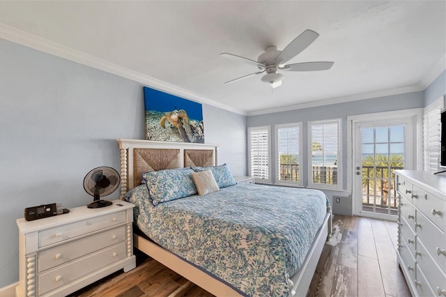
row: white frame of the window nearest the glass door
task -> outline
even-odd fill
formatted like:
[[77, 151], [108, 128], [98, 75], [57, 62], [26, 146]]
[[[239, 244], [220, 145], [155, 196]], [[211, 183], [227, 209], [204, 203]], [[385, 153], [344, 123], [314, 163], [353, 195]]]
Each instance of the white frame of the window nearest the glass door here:
[[[336, 185], [330, 185], [328, 183], [314, 183], [313, 182], [313, 135], [312, 135], [312, 128], [314, 125], [328, 125], [336, 123], [337, 124], [337, 184]], [[341, 135], [341, 129], [342, 127], [342, 119], [326, 119], [326, 120], [319, 120], [319, 121], [308, 121], [308, 162], [307, 162], [307, 173], [308, 173], [308, 186], [309, 188], [320, 188], [320, 189], [326, 189], [326, 190], [342, 190], [342, 174], [343, 174], [343, 167], [342, 167], [342, 135]]]

